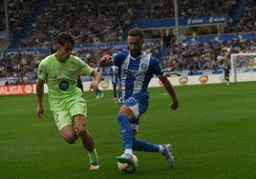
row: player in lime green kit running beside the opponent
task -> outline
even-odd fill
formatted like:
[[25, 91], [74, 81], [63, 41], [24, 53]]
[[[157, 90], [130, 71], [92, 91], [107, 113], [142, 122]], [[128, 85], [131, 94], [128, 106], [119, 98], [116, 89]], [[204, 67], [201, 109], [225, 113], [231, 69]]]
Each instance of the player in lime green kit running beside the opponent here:
[[99, 169], [94, 139], [86, 129], [86, 101], [81, 89], [76, 87], [76, 83], [80, 74], [92, 75], [94, 81], [90, 84], [89, 90], [96, 90], [101, 75], [72, 54], [74, 46], [74, 37], [69, 32], [60, 32], [56, 36], [57, 51], [40, 62], [36, 80], [38, 100], [36, 113], [39, 118], [44, 113], [43, 95], [46, 82], [50, 108], [53, 110], [54, 121], [61, 136], [69, 144], [74, 144], [80, 137], [89, 154], [90, 169]]

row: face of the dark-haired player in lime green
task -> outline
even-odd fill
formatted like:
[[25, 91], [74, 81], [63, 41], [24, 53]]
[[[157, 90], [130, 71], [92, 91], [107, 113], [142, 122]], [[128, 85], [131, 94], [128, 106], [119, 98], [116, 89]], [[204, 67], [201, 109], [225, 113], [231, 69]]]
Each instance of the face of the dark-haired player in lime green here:
[[69, 43], [65, 45], [57, 45], [57, 60], [64, 62], [70, 58], [73, 52], [73, 46]]

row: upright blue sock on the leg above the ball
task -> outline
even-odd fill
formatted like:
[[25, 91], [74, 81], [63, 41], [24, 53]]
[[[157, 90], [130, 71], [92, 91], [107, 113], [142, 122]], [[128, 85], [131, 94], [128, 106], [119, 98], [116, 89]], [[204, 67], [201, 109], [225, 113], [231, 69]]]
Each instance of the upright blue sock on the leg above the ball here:
[[133, 137], [132, 129], [129, 119], [124, 114], [118, 114], [117, 116], [119, 130], [122, 136], [122, 143], [124, 149], [133, 149]]

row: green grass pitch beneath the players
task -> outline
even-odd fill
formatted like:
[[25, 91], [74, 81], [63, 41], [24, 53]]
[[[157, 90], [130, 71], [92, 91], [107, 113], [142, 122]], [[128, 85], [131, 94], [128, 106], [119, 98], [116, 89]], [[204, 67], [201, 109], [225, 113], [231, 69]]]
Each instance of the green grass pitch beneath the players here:
[[171, 142], [175, 168], [159, 153], [137, 152], [139, 169], [121, 174], [117, 155], [123, 152], [117, 127], [118, 104], [112, 91], [88, 102], [88, 128], [98, 150], [99, 170], [90, 171], [81, 141], [67, 144], [49, 111], [35, 115], [36, 97], [0, 97], [0, 178], [255, 178], [255, 82], [175, 87], [178, 110], [170, 110], [165, 89], [150, 89], [150, 107], [140, 118], [139, 139]]

